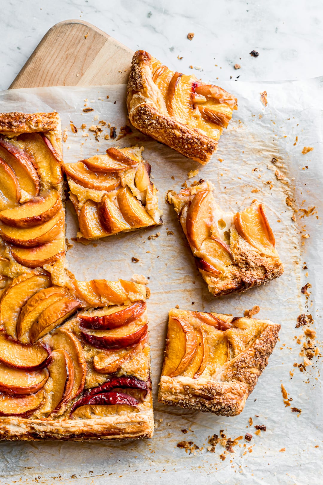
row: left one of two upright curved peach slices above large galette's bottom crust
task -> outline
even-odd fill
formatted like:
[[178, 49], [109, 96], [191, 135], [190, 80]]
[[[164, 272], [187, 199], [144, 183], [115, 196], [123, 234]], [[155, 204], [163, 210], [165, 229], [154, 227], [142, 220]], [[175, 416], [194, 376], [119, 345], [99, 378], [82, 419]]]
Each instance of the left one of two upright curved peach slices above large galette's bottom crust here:
[[62, 349], [53, 350], [48, 371], [53, 380], [50, 412], [57, 412], [69, 400], [74, 385], [74, 365], [69, 354]]

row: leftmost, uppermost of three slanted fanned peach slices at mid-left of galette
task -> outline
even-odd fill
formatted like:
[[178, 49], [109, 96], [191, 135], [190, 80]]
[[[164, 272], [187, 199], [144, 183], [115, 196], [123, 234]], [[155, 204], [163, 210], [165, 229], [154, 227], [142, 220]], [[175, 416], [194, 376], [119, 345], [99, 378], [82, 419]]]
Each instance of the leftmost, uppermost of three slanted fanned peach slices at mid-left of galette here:
[[10, 337], [17, 338], [16, 324], [21, 307], [37, 291], [50, 285], [50, 277], [45, 273], [26, 273], [14, 278], [0, 302], [0, 322]]

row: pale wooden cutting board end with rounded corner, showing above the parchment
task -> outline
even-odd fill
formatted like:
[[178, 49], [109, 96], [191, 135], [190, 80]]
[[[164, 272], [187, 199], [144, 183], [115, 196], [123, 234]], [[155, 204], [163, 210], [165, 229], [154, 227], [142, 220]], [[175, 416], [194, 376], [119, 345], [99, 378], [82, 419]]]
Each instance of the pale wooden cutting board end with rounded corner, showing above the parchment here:
[[128, 81], [133, 51], [83, 20], [64, 20], [40, 41], [9, 89]]

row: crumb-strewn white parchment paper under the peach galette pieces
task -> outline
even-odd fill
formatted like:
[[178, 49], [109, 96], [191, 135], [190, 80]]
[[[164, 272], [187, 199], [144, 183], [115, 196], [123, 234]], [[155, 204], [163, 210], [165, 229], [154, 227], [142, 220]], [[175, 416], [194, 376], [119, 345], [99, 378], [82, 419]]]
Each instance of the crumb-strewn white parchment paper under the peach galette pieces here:
[[[0, 93], [2, 112], [60, 113], [62, 128], [68, 133], [64, 143], [66, 162], [92, 156], [97, 150], [104, 153], [108, 146], [144, 146], [143, 156], [152, 164], [159, 205], [164, 212], [163, 226], [112, 236], [87, 246], [74, 243], [67, 254], [69, 268], [78, 279], [131, 279], [134, 273], [150, 277], [154, 438], [121, 443], [1, 443], [1, 483], [13, 484], [17, 480], [24, 484], [82, 485], [170, 481], [187, 485], [322, 483], [320, 359], [314, 358], [313, 367], [308, 366], [304, 372], [293, 364], [303, 362], [299, 353], [304, 338], [296, 342], [297, 337], [304, 335], [302, 327], [295, 328], [298, 315], [310, 313], [313, 328], [322, 339], [323, 78], [306, 82], [222, 82], [221, 86], [238, 97], [239, 110], [234, 112], [229, 128], [223, 133], [213, 160], [204, 167], [135, 129], [117, 141], [104, 140], [110, 130], [103, 127], [101, 141], [95, 140], [89, 127], [101, 120], [116, 126], [117, 134], [120, 127], [129, 124], [123, 85]], [[268, 98], [266, 107], [261, 103], [264, 90]], [[85, 106], [93, 111], [83, 113]], [[71, 131], [71, 121], [77, 133]], [[83, 123], [86, 129], [80, 129]], [[313, 150], [302, 154], [304, 146]], [[273, 157], [276, 163], [272, 163]], [[277, 250], [285, 264], [284, 275], [242, 294], [212, 297], [195, 268], [175, 211], [165, 203], [166, 192], [179, 190], [188, 172], [196, 169], [199, 174], [190, 182], [199, 178], [212, 180], [223, 209], [241, 210], [254, 198], [265, 204]], [[295, 201], [295, 208], [308, 210], [315, 206], [315, 210], [308, 217], [298, 211], [296, 219], [300, 215], [303, 218], [294, 223], [291, 218], [294, 211], [286, 204], [287, 196]], [[67, 204], [67, 214], [67, 237], [72, 242], [77, 222], [71, 204]], [[156, 233], [160, 233], [158, 238], [148, 240], [148, 236]], [[301, 234], [309, 237], [301, 238]], [[131, 261], [133, 256], [139, 259], [138, 263]], [[307, 269], [303, 270], [303, 266]], [[312, 285], [308, 297], [301, 293], [306, 282]], [[276, 349], [240, 416], [223, 418], [157, 404], [168, 310], [176, 305], [234, 315], [242, 315], [246, 308], [259, 305], [260, 318], [281, 323]], [[291, 406], [285, 407], [283, 403], [281, 384], [288, 398], [292, 398]], [[301, 414], [292, 412], [292, 407], [301, 409]], [[253, 420], [251, 426], [249, 418]], [[266, 432], [256, 436], [255, 424], [264, 424]], [[241, 446], [234, 446], [234, 453], [225, 452], [221, 444], [211, 453], [207, 451], [208, 436], [219, 435], [220, 430], [232, 439], [245, 436], [246, 432], [253, 437], [250, 442], [239, 440]], [[192, 441], [199, 449], [186, 453], [176, 446], [183, 440]]]

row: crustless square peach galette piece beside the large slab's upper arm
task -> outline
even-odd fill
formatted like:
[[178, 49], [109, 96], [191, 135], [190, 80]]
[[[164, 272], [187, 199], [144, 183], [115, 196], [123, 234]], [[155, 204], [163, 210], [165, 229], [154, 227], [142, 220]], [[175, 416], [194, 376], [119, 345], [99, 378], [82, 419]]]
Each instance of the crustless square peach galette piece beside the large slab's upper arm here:
[[77, 237], [99, 239], [161, 224], [151, 166], [143, 147], [108, 148], [77, 163], [63, 163], [78, 216]]

